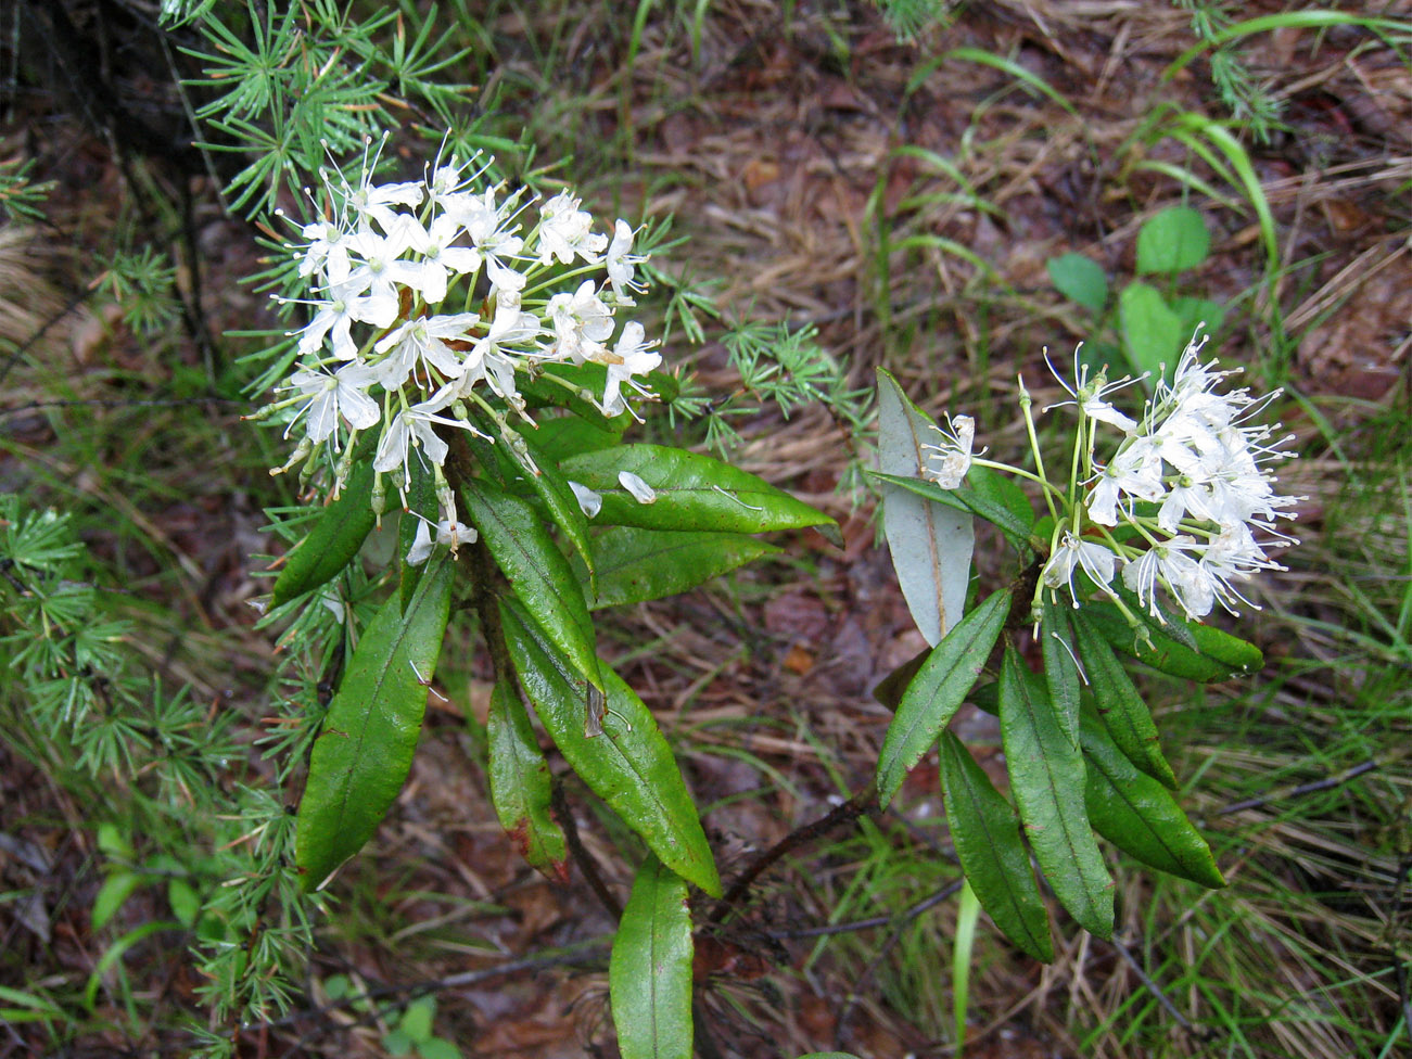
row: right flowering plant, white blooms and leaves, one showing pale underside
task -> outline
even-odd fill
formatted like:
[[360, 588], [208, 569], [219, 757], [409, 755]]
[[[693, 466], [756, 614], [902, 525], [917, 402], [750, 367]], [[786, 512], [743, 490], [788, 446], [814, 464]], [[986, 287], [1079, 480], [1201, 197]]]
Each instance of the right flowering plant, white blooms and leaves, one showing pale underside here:
[[[1059, 376], [1072, 400], [1055, 408], [1072, 408], [1076, 422], [1058, 463], [1046, 462], [1021, 380], [1032, 470], [984, 459], [970, 417], [943, 428], [880, 373], [884, 525], [932, 648], [880, 690], [897, 717], [878, 794], [888, 803], [940, 740], [962, 868], [995, 923], [1038, 959], [1053, 946], [1029, 851], [1059, 902], [1101, 936], [1113, 932], [1113, 881], [1094, 832], [1151, 867], [1224, 885], [1171, 794], [1178, 781], [1152, 714], [1118, 661], [1197, 681], [1258, 668], [1257, 648], [1199, 620], [1217, 604], [1254, 606], [1247, 583], [1282, 569], [1271, 552], [1295, 542], [1278, 522], [1298, 498], [1281, 496], [1274, 474], [1288, 453], [1278, 425], [1260, 422], [1274, 394], [1227, 388], [1234, 373], [1203, 363], [1202, 346], [1193, 340], [1171, 381], [1155, 383], [1141, 418], [1114, 404], [1139, 380], [1090, 378], [1076, 356], [1073, 381]], [[1038, 490], [1042, 517], [1017, 480]], [[1017, 578], [967, 611], [976, 518], [1015, 551]], [[1014, 808], [946, 730], [967, 699], [1000, 714]]]

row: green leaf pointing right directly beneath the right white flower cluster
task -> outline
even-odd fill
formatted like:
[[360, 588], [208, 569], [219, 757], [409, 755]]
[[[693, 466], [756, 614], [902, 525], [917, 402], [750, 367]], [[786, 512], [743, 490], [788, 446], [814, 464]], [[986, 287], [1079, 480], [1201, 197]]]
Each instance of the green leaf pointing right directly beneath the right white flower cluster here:
[[1260, 648], [1219, 628], [1176, 617], [1163, 626], [1141, 607], [1130, 604], [1128, 609], [1142, 623], [1147, 640], [1128, 626], [1113, 603], [1090, 603], [1083, 617], [1110, 645], [1158, 672], [1210, 683], [1264, 665]]

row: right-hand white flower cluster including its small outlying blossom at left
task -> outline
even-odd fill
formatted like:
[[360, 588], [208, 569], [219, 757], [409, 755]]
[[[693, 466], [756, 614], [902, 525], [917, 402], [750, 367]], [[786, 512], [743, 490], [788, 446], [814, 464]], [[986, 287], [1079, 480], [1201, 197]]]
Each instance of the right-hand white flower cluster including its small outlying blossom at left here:
[[[1275, 521], [1292, 518], [1289, 508], [1299, 497], [1275, 493], [1271, 469], [1291, 456], [1278, 449], [1288, 439], [1274, 439], [1278, 424], [1255, 422], [1276, 394], [1217, 393], [1236, 373], [1217, 371], [1216, 361], [1203, 364], [1203, 345], [1204, 339], [1186, 347], [1172, 381], [1158, 384], [1141, 422], [1107, 400], [1135, 380], [1110, 384], [1100, 374], [1090, 383], [1082, 369], [1076, 388], [1060, 378], [1073, 397], [1065, 404], [1080, 409], [1075, 466], [1086, 477], [1076, 481], [1077, 496], [1067, 497], [1058, 515], [1041, 582], [1049, 589], [1067, 586], [1075, 606], [1077, 570], [1108, 594], [1121, 570], [1123, 583], [1154, 616], [1159, 616], [1158, 586], [1171, 592], [1189, 618], [1210, 614], [1217, 603], [1236, 613], [1237, 603], [1250, 604], [1237, 587], [1241, 582], [1257, 570], [1284, 569], [1268, 549], [1296, 542]], [[1107, 463], [1093, 460], [1099, 424], [1121, 431]], [[928, 446], [933, 455], [928, 477], [943, 489], [960, 484], [973, 462], [973, 433], [966, 417], [956, 417], [942, 442]]]

